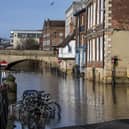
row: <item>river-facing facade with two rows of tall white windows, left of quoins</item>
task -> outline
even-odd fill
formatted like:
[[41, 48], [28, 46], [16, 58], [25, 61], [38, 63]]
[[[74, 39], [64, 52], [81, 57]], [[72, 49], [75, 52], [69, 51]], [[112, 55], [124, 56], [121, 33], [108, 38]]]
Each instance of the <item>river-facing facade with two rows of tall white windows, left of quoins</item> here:
[[[105, 0], [88, 0], [86, 2], [86, 45], [87, 45], [87, 63], [86, 77], [88, 79], [103, 80], [105, 71], [104, 64], [104, 42], [105, 42], [105, 7], [108, 6]], [[95, 75], [94, 75], [95, 74]]]

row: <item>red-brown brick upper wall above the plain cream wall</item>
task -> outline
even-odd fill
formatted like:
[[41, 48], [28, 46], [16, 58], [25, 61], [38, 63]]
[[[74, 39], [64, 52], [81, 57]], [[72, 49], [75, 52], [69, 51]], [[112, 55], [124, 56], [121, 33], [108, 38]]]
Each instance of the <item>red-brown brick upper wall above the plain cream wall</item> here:
[[112, 26], [129, 30], [129, 0], [112, 0]]

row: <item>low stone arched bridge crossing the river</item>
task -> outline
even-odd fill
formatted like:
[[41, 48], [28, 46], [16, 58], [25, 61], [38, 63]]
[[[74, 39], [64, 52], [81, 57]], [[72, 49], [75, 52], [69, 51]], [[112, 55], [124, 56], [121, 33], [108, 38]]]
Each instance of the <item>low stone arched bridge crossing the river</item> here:
[[58, 67], [58, 58], [53, 52], [46, 51], [18, 51], [18, 50], [8, 50], [0, 51], [0, 61], [5, 60], [8, 62], [6, 69], [10, 69], [13, 65], [26, 61], [26, 60], [35, 60], [41, 61], [51, 66]]

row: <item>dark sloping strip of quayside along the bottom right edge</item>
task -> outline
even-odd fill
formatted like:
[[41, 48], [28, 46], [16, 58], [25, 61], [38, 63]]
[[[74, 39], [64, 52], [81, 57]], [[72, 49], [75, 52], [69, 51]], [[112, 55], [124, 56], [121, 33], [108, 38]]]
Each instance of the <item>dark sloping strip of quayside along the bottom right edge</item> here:
[[56, 129], [129, 129], [129, 119], [113, 120], [109, 122], [80, 126], [69, 126]]

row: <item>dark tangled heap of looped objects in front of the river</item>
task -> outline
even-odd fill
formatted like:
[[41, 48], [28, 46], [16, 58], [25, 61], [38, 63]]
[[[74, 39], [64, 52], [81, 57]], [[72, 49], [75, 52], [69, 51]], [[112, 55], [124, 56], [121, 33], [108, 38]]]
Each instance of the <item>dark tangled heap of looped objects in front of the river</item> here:
[[23, 99], [16, 104], [18, 120], [22, 127], [29, 129], [45, 129], [45, 125], [53, 119], [61, 119], [60, 105], [45, 91], [26, 90]]

